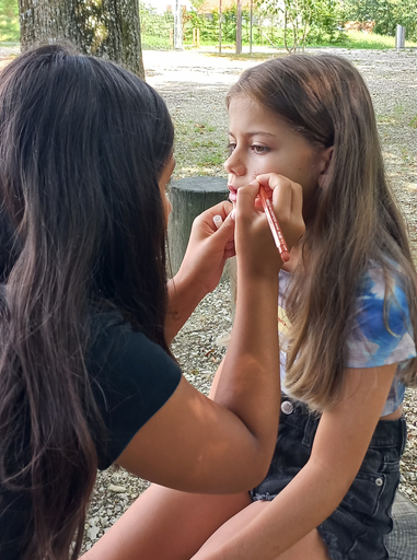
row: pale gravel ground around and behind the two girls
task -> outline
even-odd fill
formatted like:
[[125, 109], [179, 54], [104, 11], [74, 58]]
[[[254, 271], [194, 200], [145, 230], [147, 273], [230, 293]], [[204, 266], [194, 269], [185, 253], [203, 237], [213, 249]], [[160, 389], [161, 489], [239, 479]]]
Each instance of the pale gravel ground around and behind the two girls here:
[[[362, 73], [370, 89], [386, 162], [387, 175], [408, 221], [417, 257], [417, 104], [416, 54], [322, 49], [348, 58]], [[309, 49], [316, 54], [320, 49]], [[11, 54], [0, 48], [1, 58]], [[265, 58], [283, 52], [264, 52]], [[176, 125], [174, 178], [190, 175], [224, 175], [228, 118], [224, 94], [239, 74], [259, 58], [244, 60], [212, 52], [144, 51], [147, 80], [165, 98]], [[414, 126], [413, 126], [414, 124]], [[173, 342], [173, 352], [185, 376], [207, 392], [223, 350], [216, 343], [231, 327], [230, 285], [221, 283], [196, 308]], [[405, 415], [408, 444], [402, 462], [401, 490], [417, 503], [417, 392], [407, 390]], [[97, 476], [85, 526], [84, 549], [120, 516], [148, 482], [123, 469]]]

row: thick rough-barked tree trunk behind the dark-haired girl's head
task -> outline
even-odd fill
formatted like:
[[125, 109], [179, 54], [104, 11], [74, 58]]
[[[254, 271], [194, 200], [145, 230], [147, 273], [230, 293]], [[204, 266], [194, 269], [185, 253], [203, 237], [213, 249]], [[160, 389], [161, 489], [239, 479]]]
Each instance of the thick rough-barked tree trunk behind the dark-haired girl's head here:
[[21, 48], [60, 40], [144, 78], [138, 0], [19, 0]]

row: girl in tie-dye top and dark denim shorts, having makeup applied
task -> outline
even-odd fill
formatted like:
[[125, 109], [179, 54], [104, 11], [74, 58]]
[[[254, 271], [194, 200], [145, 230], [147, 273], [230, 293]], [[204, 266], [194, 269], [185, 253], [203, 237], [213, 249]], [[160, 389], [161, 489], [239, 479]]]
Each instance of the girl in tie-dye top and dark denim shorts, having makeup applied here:
[[[279, 272], [274, 459], [259, 486], [227, 500], [151, 487], [103, 546], [135, 518], [147, 525], [88, 560], [386, 559], [402, 402], [417, 382], [417, 278], [369, 92], [347, 60], [297, 55], [243, 73], [228, 107], [231, 200], [282, 176], [303, 190], [305, 234]], [[242, 280], [238, 270], [238, 294]]]

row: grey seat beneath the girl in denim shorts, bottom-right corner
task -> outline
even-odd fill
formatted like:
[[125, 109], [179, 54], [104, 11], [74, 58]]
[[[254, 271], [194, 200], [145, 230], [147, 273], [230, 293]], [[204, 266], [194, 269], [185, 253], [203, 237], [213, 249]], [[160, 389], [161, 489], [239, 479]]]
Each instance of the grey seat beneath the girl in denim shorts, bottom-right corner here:
[[417, 505], [397, 492], [392, 515], [394, 528], [386, 541], [390, 560], [417, 560]]

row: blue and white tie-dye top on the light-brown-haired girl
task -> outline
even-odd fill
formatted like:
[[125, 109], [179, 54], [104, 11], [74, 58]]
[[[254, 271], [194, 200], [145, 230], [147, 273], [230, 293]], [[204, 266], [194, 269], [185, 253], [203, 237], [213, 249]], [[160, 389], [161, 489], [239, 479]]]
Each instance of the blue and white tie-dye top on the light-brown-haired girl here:
[[[290, 328], [285, 311], [285, 296], [290, 281], [291, 275], [281, 270], [279, 273], [278, 328], [283, 392], [286, 392], [286, 334]], [[346, 368], [375, 368], [398, 363], [381, 416], [394, 412], [402, 405], [405, 387], [399, 380], [399, 372], [410, 358], [417, 355], [408, 303], [399, 275], [397, 278], [391, 278], [385, 315], [384, 294], [385, 281], [382, 269], [369, 268], [357, 289], [356, 313], [354, 313], [354, 319], [348, 328], [349, 335], [345, 348]]]

